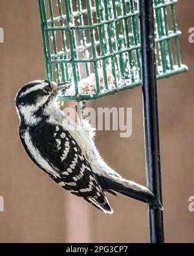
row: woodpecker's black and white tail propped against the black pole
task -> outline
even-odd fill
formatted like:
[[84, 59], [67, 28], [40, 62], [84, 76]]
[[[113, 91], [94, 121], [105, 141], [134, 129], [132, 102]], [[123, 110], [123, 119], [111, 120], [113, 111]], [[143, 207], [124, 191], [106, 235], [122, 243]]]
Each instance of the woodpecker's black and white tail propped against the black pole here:
[[116, 191], [125, 196], [145, 202], [155, 209], [163, 210], [163, 206], [156, 196], [147, 187], [133, 181], [125, 180], [121, 176], [98, 176], [102, 189], [109, 192]]

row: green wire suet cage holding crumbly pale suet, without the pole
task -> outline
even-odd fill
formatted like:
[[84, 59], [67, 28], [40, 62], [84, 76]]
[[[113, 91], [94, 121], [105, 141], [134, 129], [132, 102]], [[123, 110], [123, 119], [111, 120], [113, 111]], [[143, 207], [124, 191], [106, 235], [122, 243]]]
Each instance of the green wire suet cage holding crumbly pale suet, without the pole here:
[[[60, 100], [98, 99], [141, 84], [137, 2], [39, 0], [46, 77], [74, 87]], [[176, 2], [154, 0], [157, 78], [187, 70], [180, 57]]]

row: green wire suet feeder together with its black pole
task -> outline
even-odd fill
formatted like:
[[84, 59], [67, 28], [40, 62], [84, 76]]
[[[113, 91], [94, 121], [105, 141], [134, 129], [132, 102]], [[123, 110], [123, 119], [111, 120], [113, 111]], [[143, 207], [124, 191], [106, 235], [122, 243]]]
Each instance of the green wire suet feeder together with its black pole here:
[[[175, 18], [177, 0], [38, 0], [47, 80], [70, 82], [90, 100], [142, 84], [147, 187], [162, 202], [156, 78], [187, 71]], [[92, 93], [80, 83], [91, 81]], [[82, 81], [82, 82], [81, 82]], [[164, 242], [162, 211], [149, 207], [151, 242]]]

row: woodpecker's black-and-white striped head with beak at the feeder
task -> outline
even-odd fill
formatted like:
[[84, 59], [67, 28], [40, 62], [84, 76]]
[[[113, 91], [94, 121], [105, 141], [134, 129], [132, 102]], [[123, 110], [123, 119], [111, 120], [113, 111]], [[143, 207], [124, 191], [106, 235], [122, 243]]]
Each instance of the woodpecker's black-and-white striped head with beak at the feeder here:
[[16, 108], [20, 119], [26, 124], [32, 124], [37, 123], [44, 115], [51, 115], [56, 108], [56, 96], [63, 87], [47, 80], [25, 84], [16, 95]]

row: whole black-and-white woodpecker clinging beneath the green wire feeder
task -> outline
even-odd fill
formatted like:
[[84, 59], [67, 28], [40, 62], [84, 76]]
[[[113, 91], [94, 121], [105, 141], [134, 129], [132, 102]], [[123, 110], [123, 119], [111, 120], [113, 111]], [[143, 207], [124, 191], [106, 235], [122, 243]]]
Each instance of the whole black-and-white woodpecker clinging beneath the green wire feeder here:
[[92, 128], [74, 121], [56, 106], [59, 87], [54, 82], [34, 81], [16, 95], [19, 134], [28, 155], [52, 180], [81, 196], [105, 213], [113, 213], [104, 194], [120, 192], [162, 209], [146, 187], [128, 181], [108, 167], [93, 141]]

